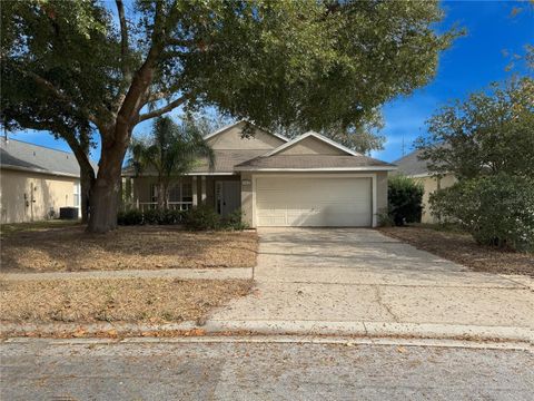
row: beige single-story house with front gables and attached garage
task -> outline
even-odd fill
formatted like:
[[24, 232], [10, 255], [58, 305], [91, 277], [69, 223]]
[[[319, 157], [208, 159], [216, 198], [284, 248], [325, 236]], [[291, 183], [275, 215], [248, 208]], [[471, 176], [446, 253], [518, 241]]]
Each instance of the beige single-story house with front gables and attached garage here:
[[[289, 140], [239, 121], [206, 137], [215, 168], [206, 162], [170, 190], [170, 205], [212, 206], [227, 215], [241, 208], [245, 222], [259, 226], [376, 226], [387, 206], [387, 174], [396, 167], [353, 151], [316, 133]], [[130, 198], [139, 208], [156, 207], [154, 173], [136, 177], [123, 169]]]

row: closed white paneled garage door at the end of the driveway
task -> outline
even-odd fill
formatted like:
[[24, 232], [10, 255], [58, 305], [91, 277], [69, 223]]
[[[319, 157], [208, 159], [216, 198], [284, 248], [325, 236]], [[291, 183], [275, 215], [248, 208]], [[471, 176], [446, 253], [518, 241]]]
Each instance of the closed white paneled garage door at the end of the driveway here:
[[256, 179], [257, 226], [370, 226], [370, 178]]

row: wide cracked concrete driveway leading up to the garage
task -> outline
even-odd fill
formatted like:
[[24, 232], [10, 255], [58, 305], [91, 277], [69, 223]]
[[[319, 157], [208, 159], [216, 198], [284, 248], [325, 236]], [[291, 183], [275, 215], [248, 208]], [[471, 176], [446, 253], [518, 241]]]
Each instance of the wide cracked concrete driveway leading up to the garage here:
[[360, 324], [365, 333], [417, 325], [458, 333], [472, 331], [455, 326], [487, 332], [498, 327], [512, 338], [532, 334], [534, 293], [525, 278], [469, 272], [374, 229], [258, 233], [256, 291], [215, 313], [211, 321], [236, 322], [236, 327], [270, 322], [280, 331], [290, 326], [284, 322], [293, 322], [332, 327], [334, 333], [335, 327]]

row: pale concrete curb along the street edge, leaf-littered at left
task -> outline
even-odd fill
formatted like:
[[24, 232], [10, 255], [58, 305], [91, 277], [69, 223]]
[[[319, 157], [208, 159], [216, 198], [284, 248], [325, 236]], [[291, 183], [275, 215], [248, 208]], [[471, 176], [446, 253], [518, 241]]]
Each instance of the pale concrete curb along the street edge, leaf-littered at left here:
[[[156, 335], [158, 333], [159, 335]], [[319, 321], [214, 321], [165, 324], [2, 324], [0, 335], [12, 336], [204, 336], [224, 335], [325, 335], [404, 338], [428, 340], [477, 340], [534, 344], [534, 330], [512, 326], [478, 326], [432, 323], [319, 322]]]

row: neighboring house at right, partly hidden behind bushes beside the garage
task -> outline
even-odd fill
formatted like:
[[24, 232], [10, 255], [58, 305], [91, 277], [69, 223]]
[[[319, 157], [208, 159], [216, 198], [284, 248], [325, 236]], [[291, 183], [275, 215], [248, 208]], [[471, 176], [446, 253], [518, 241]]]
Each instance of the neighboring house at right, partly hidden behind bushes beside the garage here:
[[398, 167], [397, 174], [415, 178], [418, 183], [422, 183], [425, 188], [425, 193], [423, 194], [423, 216], [421, 222], [437, 223], [438, 218], [431, 213], [428, 198], [433, 192], [452, 186], [456, 182], [456, 178], [452, 174], [445, 174], [441, 177], [432, 175], [428, 172], [427, 162], [419, 159], [419, 150], [414, 150], [394, 162], [394, 164]]

